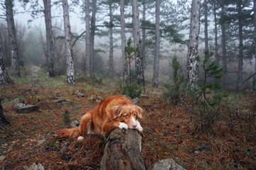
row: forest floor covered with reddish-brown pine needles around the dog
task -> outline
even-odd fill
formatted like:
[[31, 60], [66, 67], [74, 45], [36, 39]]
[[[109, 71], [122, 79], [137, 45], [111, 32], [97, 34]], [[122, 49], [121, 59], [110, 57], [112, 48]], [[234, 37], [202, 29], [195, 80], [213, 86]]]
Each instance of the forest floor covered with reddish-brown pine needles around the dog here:
[[[30, 74], [28, 74], [30, 73]], [[80, 117], [105, 97], [119, 94], [112, 81], [78, 78], [75, 85], [65, 77], [49, 78], [38, 67], [30, 67], [14, 86], [0, 89], [4, 115], [11, 125], [0, 130], [0, 169], [26, 169], [33, 162], [45, 169], [100, 169], [104, 139], [87, 135], [85, 140], [59, 138], [55, 131], [65, 128], [63, 113], [70, 120]], [[85, 94], [78, 97], [75, 91]], [[142, 157], [148, 169], [161, 159], [171, 158], [186, 169], [255, 169], [256, 98], [250, 94], [233, 94], [226, 100], [233, 110], [223, 113], [215, 125], [215, 134], [194, 131], [195, 119], [188, 108], [168, 106], [161, 89], [146, 86], [149, 98], [140, 98], [144, 108], [140, 120]], [[53, 103], [65, 99], [63, 103]], [[16, 113], [16, 103], [39, 106], [38, 112]]]

